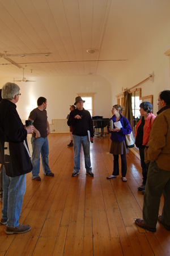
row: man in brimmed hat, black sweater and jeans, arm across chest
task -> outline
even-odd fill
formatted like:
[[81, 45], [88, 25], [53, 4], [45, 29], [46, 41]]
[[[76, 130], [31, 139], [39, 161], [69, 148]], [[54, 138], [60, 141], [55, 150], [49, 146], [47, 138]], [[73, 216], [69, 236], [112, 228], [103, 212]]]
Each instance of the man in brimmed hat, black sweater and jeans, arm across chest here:
[[[90, 112], [84, 110], [83, 103], [85, 100], [81, 96], [75, 98], [75, 110], [70, 112], [67, 124], [73, 128], [73, 142], [74, 142], [74, 170], [71, 176], [75, 177], [80, 170], [80, 150], [83, 146], [84, 161], [86, 167], [86, 174], [94, 177], [90, 161], [90, 141], [94, 140], [94, 127]], [[88, 137], [88, 131], [90, 136]], [[90, 138], [90, 139], [89, 139]], [[89, 141], [90, 140], [90, 141]]]

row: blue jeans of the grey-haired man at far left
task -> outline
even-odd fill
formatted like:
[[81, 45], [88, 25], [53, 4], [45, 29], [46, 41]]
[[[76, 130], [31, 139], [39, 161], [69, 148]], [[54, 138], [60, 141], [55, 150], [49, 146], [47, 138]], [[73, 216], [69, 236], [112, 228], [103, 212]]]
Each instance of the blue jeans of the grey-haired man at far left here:
[[2, 219], [7, 219], [7, 226], [15, 228], [19, 225], [20, 211], [26, 190], [26, 174], [8, 177], [3, 168], [3, 203]]

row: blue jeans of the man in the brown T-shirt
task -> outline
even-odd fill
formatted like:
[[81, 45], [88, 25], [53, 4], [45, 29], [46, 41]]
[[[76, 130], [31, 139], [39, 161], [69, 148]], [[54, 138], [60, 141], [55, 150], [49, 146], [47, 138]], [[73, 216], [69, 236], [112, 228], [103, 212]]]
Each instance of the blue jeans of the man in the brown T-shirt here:
[[32, 144], [32, 178], [39, 177], [40, 173], [40, 153], [42, 160], [42, 168], [44, 171], [44, 175], [51, 173], [50, 167], [48, 165], [48, 155], [49, 155], [49, 147], [48, 147], [48, 138], [31, 138]]

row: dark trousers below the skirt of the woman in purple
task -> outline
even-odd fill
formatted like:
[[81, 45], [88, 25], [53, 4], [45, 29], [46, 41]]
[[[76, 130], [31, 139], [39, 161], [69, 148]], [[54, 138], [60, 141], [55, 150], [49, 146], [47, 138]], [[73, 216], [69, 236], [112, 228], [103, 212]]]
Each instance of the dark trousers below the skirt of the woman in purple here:
[[[117, 176], [119, 175], [119, 168], [118, 168], [118, 154], [113, 154], [113, 173], [112, 175]], [[126, 177], [127, 171], [127, 162], [126, 162], [126, 154], [121, 154], [121, 173], [122, 177]]]

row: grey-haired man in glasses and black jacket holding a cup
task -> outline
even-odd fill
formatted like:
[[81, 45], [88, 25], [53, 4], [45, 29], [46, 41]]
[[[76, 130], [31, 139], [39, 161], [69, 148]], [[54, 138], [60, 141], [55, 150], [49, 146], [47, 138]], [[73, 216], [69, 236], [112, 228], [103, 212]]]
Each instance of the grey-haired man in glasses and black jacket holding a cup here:
[[[18, 85], [10, 82], [6, 83], [2, 88], [2, 101], [0, 103], [0, 161], [3, 166], [7, 162], [4, 154], [4, 150], [7, 150], [5, 142], [13, 142], [14, 145], [15, 143], [27, 141], [27, 133], [33, 132], [32, 125], [24, 127], [16, 111], [16, 103], [20, 95], [19, 90]], [[19, 172], [22, 173], [20, 170]], [[31, 226], [19, 225], [19, 217], [26, 189], [26, 174], [20, 174], [19, 176], [14, 174], [14, 177], [9, 177], [7, 174], [7, 170], [4, 167], [2, 219], [0, 222], [2, 225], [7, 224], [5, 229], [7, 234], [25, 233], [31, 229]]]

